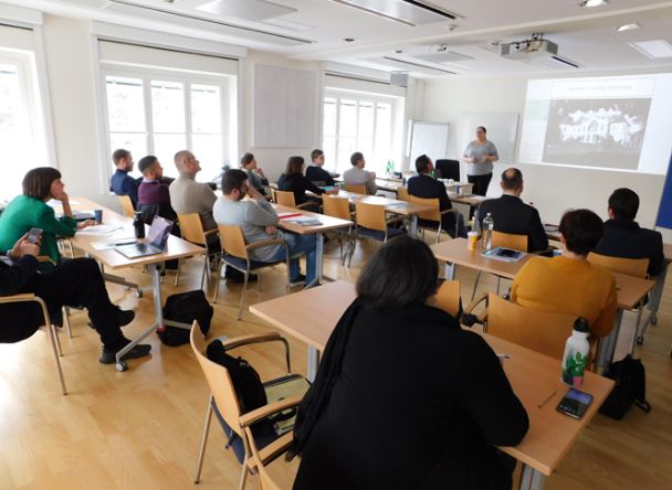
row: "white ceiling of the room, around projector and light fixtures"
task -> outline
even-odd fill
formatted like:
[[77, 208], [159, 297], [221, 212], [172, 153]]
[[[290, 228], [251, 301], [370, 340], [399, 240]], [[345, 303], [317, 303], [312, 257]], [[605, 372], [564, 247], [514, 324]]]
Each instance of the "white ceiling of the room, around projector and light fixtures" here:
[[[651, 60], [629, 44], [672, 42], [672, 1], [610, 0], [605, 7], [584, 9], [578, 0], [426, 0], [458, 19], [416, 26], [332, 0], [3, 1], [297, 60], [407, 70], [421, 77], [539, 72], [544, 68], [536, 64], [501, 57], [496, 49], [496, 43], [525, 40], [535, 32], [557, 43], [558, 54], [580, 66], [558, 68], [565, 72], [672, 68], [672, 57]], [[641, 29], [616, 31], [629, 22]], [[347, 38], [354, 41], [346, 42]]]

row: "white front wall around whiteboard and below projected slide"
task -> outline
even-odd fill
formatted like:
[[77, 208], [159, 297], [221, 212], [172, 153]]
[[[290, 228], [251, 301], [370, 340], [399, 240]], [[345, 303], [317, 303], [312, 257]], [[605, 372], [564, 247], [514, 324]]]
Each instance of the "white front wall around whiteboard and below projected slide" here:
[[[518, 75], [455, 77], [448, 81], [427, 82], [422, 118], [427, 121], [450, 124], [449, 155], [451, 158], [459, 158], [464, 150], [458, 148], [462, 113], [515, 111], [521, 115], [522, 121], [528, 78], [531, 77]], [[519, 128], [521, 125], [518, 125], [518, 140]], [[496, 143], [497, 135], [489, 134], [487, 136]], [[542, 220], [548, 223], [558, 223], [563, 213], [570, 207], [588, 207], [606, 219], [607, 199], [615, 189], [620, 187], [628, 187], [640, 195], [639, 223], [649, 227], [655, 223], [664, 183], [663, 175], [524, 163], [516, 163], [516, 167], [521, 169], [525, 179], [523, 199], [526, 202], [533, 202], [539, 210]], [[504, 169], [503, 164], [495, 164], [489, 195], [500, 194], [498, 180]]]

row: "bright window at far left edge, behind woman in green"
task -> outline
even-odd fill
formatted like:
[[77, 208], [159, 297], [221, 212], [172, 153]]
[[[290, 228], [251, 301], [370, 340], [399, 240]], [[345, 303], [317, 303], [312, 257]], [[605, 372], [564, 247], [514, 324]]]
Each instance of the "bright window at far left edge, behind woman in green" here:
[[0, 148], [3, 160], [0, 200], [20, 192], [25, 172], [50, 164], [30, 52], [0, 50]]

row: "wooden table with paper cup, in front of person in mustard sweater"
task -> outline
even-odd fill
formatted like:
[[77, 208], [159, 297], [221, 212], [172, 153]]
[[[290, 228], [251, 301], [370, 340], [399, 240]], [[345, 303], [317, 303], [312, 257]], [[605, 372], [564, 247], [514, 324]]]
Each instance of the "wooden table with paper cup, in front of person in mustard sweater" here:
[[[534, 254], [525, 254], [519, 260], [503, 262], [483, 257], [479, 252], [480, 242], [476, 244], [476, 251], [469, 251], [466, 243], [466, 238], [455, 238], [440, 242], [430, 247], [437, 259], [445, 262], [445, 279], [453, 280], [455, 278], [455, 266], [458, 265], [494, 274], [506, 279], [513, 279], [527, 260], [532, 257], [539, 257]], [[549, 260], [547, 257], [542, 258]], [[607, 369], [613, 360], [616, 343], [621, 329], [623, 310], [632, 310], [637, 307], [641, 307], [642, 300], [655, 285], [653, 280], [628, 276], [626, 274], [611, 274], [616, 278], [618, 310], [613, 329], [611, 329], [611, 332], [609, 332], [608, 335], [601, 338], [599, 342], [597, 365], [601, 370]]]

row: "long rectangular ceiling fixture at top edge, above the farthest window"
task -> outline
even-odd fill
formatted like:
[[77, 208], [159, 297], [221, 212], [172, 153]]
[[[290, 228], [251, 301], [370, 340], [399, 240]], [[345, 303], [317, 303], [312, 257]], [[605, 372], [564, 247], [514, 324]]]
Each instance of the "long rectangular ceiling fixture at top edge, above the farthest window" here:
[[417, 0], [332, 0], [406, 25], [426, 25], [455, 20], [458, 15]]

